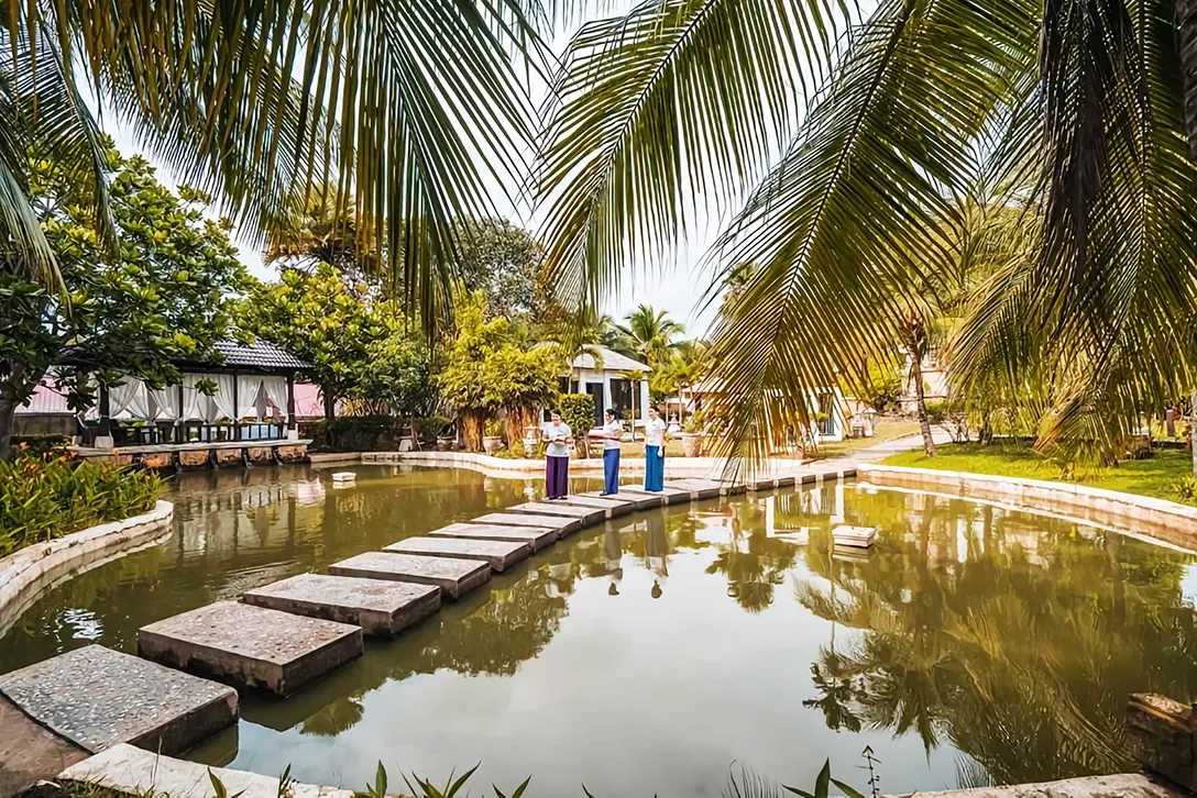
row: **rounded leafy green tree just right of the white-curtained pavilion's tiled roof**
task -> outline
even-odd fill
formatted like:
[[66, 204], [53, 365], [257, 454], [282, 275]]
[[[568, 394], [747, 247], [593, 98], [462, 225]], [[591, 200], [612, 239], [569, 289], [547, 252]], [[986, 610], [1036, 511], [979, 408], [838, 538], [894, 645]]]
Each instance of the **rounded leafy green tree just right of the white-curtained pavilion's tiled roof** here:
[[238, 305], [237, 323], [312, 364], [300, 377], [320, 385], [326, 419], [336, 415], [338, 400], [354, 396], [371, 347], [388, 333], [359, 291], [327, 263], [311, 274], [285, 269], [278, 282], [255, 281]]

